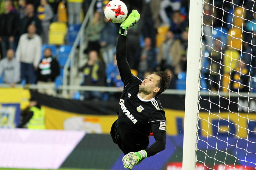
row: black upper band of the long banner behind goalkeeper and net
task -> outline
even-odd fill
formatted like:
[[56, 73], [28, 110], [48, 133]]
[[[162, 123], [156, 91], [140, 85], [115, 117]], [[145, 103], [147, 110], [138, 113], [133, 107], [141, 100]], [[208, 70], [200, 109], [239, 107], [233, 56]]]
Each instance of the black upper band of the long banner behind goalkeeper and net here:
[[[115, 108], [119, 106], [119, 100], [80, 101], [51, 97], [33, 90], [30, 90], [30, 93], [31, 96], [36, 97], [45, 106], [79, 114], [84, 114], [85, 110], [86, 114], [116, 114]], [[159, 99], [163, 108], [185, 110], [185, 95], [161, 94]], [[209, 110], [211, 112], [239, 111], [240, 113], [256, 113], [256, 99], [248, 99], [248, 97], [201, 96], [200, 105], [204, 106], [204, 110], [201, 110], [202, 112]], [[248, 106], [250, 110], [248, 110]]]

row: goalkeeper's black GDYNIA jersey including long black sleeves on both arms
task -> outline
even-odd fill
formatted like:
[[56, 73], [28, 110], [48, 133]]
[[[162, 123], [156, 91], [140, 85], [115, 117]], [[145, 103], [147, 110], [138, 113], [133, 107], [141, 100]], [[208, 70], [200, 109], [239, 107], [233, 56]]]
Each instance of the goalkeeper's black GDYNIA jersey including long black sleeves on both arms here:
[[125, 43], [126, 36], [119, 35], [116, 60], [124, 89], [119, 100], [117, 132], [122, 141], [129, 145], [145, 144], [149, 142], [150, 132], [155, 132], [156, 142], [148, 148], [148, 155], [155, 154], [159, 148], [165, 147], [165, 112], [158, 97], [151, 100], [139, 97], [139, 86], [142, 81], [131, 73], [126, 59]]

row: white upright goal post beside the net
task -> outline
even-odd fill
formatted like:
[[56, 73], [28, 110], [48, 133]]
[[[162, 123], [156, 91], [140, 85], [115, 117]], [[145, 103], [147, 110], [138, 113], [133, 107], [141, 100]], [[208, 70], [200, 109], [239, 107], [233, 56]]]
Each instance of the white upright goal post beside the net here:
[[193, 170], [195, 168], [202, 0], [190, 0], [189, 10], [183, 170]]

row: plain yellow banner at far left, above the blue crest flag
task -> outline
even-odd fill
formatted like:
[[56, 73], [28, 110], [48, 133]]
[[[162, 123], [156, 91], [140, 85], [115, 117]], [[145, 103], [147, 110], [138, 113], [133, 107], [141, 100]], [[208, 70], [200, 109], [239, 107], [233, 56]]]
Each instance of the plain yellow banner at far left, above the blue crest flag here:
[[22, 87], [0, 88], [0, 103], [20, 103], [23, 110], [29, 105], [30, 92]]

